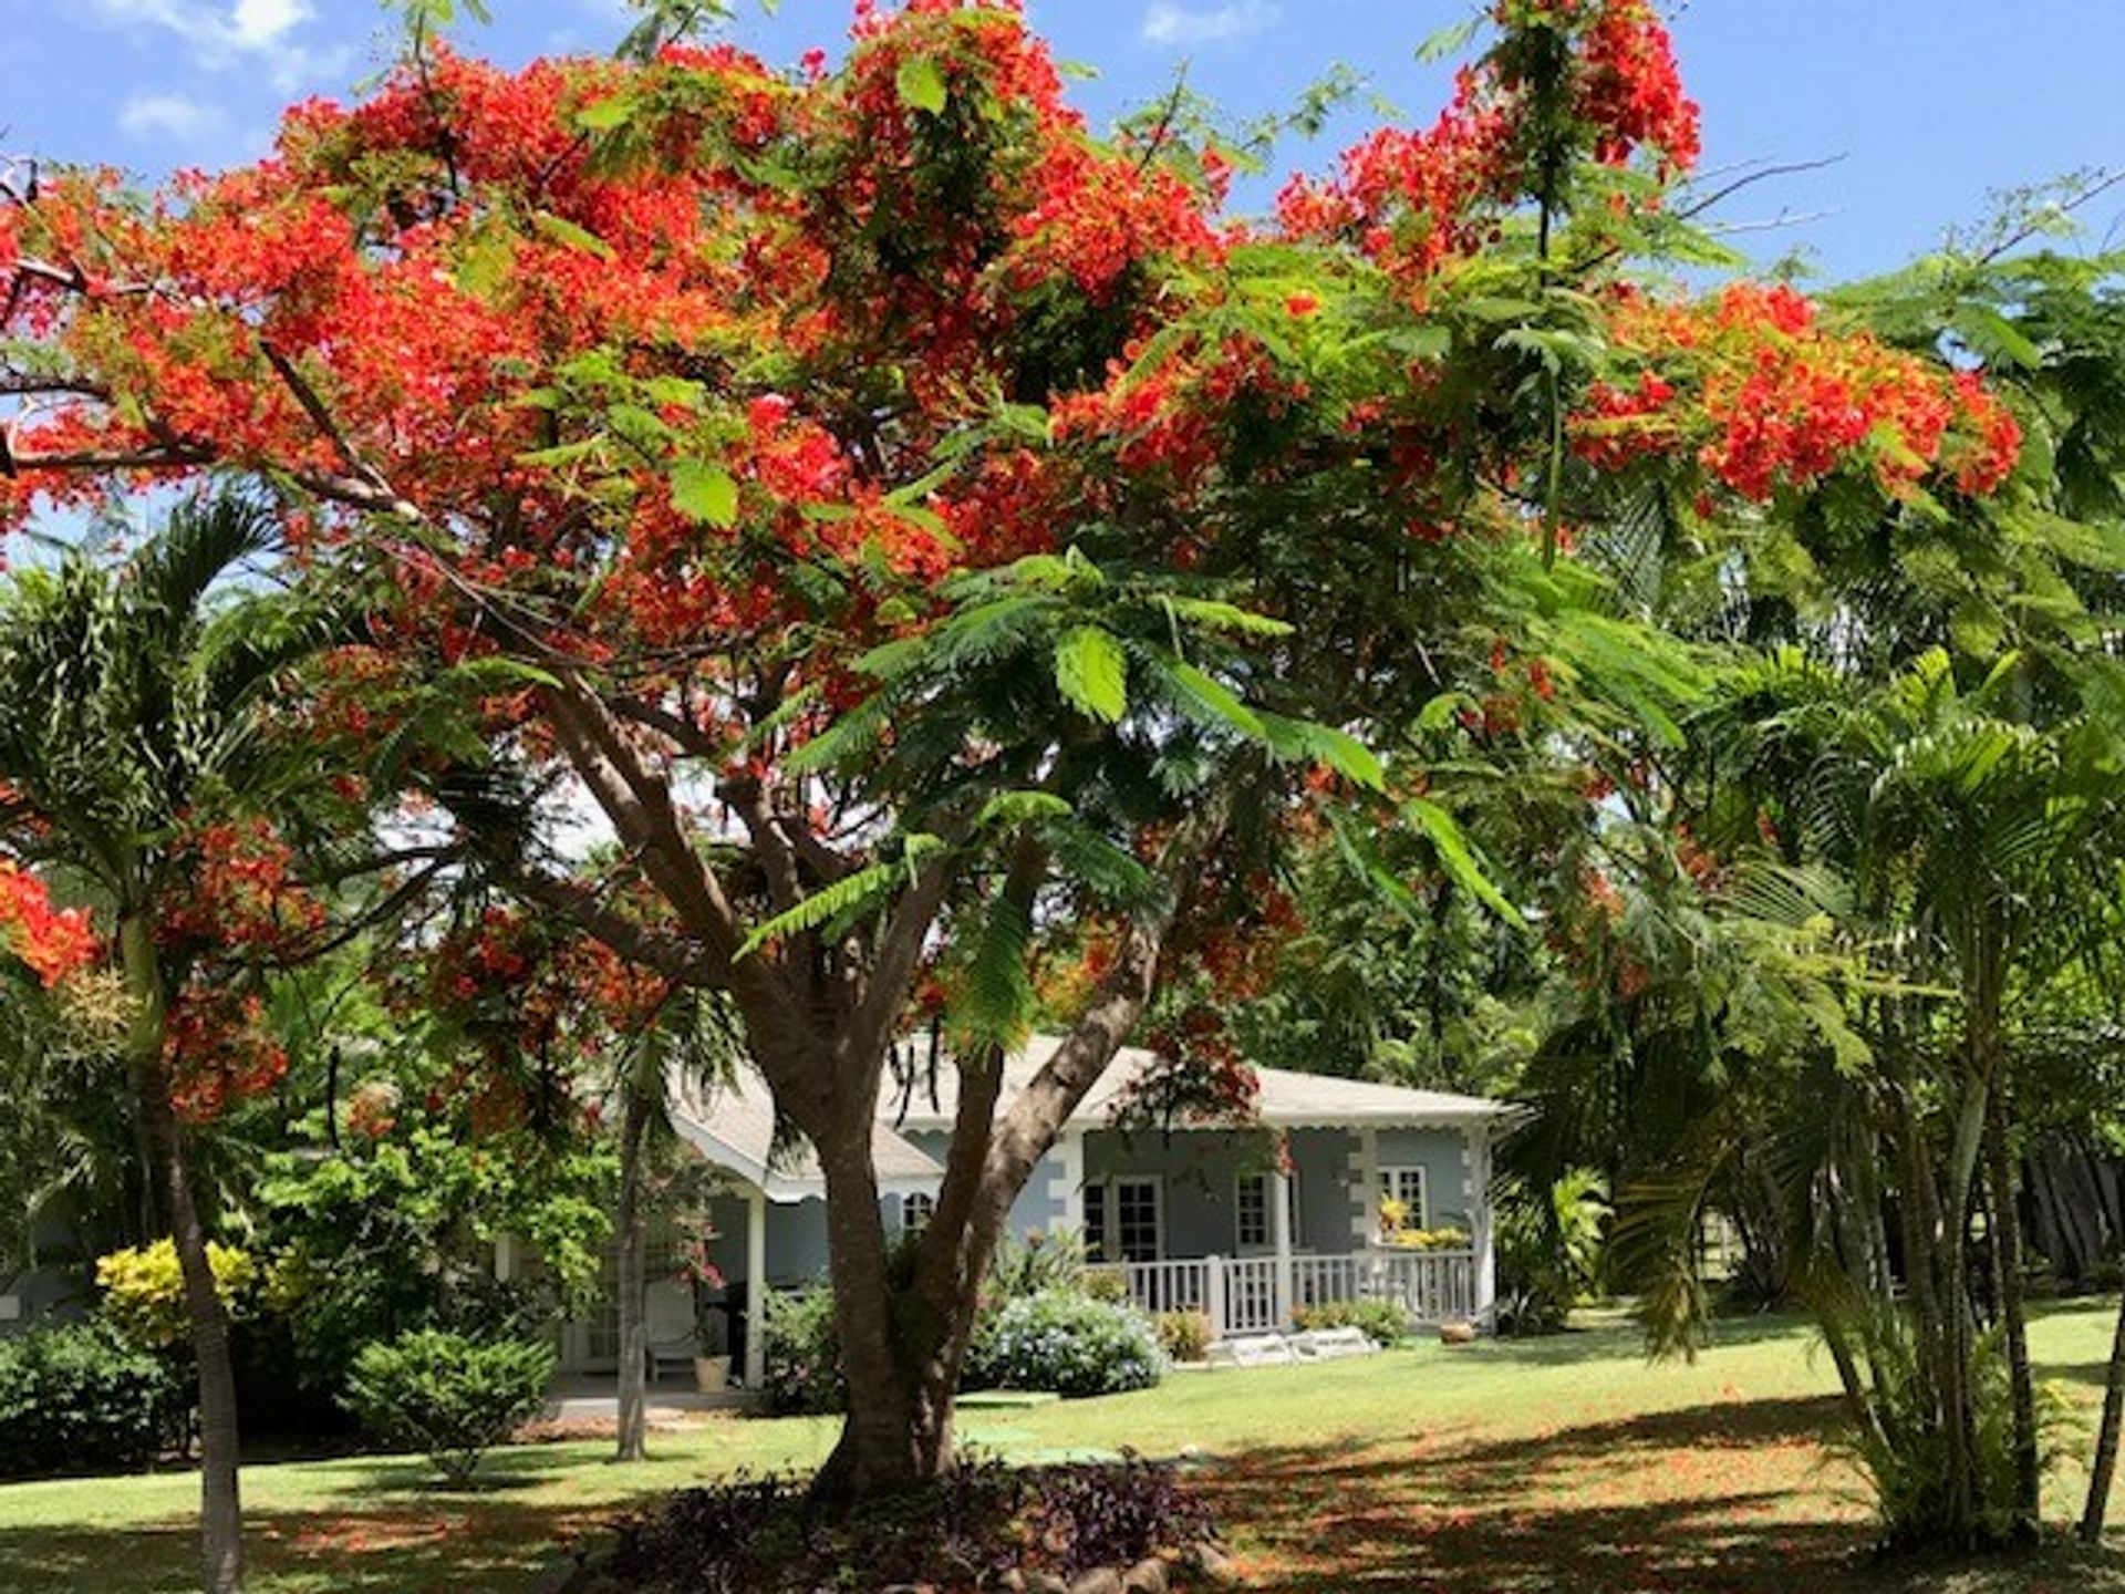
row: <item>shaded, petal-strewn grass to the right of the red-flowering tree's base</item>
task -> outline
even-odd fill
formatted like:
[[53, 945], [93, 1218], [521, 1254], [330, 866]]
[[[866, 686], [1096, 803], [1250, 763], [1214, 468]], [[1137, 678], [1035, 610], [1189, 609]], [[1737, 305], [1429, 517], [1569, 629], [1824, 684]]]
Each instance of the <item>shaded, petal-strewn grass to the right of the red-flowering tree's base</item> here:
[[[1747, 1401], [1504, 1441], [1290, 1445], [1201, 1475], [1252, 1588], [1284, 1594], [2125, 1590], [2125, 1554], [1876, 1564], [1819, 1441], [1836, 1403]], [[1974, 1581], [1970, 1581], [1974, 1579]]]

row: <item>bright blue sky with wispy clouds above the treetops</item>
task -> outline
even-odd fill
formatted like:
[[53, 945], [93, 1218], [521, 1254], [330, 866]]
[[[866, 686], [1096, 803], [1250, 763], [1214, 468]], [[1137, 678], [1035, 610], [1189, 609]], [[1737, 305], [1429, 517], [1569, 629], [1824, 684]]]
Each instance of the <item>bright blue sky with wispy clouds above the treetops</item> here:
[[[623, 0], [491, 6], [495, 26], [465, 47], [512, 62], [608, 49], [625, 28]], [[1413, 45], [1468, 0], [1035, 0], [1033, 15], [1060, 55], [1101, 70], [1077, 89], [1099, 121], [1182, 62], [1239, 113], [1281, 108], [1347, 62], [1430, 121], [1443, 68], [1420, 68]], [[0, 147], [144, 176], [257, 153], [283, 104], [346, 96], [389, 40], [376, 0], [0, 0]], [[737, 34], [795, 60], [846, 19], [844, 0], [784, 0]], [[1806, 247], [1830, 274], [1885, 270], [1978, 217], [1991, 189], [2125, 164], [2125, 0], [1692, 0], [1674, 32], [1706, 106], [1706, 166], [1842, 157], [1730, 202], [1736, 223], [1800, 217], [1747, 234], [1766, 257]], [[1286, 159], [1322, 166], [1332, 142]], [[2125, 198], [2089, 221], [2125, 240]]]

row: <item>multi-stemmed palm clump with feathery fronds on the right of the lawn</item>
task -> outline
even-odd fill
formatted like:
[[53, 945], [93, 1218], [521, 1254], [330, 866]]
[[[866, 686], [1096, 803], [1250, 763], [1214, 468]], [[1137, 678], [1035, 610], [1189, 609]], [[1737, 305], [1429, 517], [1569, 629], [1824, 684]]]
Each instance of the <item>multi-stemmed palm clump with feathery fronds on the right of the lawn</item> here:
[[[1726, 1122], [1776, 1129], [1796, 1286], [1823, 1320], [1862, 1458], [1878, 1483], [1898, 1477], [1883, 1488], [1889, 1528], [1912, 1541], [2036, 1530], [2010, 1033], [2017, 1010], [2110, 933], [2102, 903], [2121, 837], [2112, 727], [2070, 695], [2046, 701], [2029, 674], [2008, 655], [1964, 689], [1944, 652], [1923, 652], [1868, 684], [1783, 650], [1742, 669], [1698, 727], [1706, 831], [1732, 840], [1774, 816], [1785, 842], [1747, 908], [1772, 901], [1764, 874], [1830, 871], [1840, 888], [1804, 910], [1830, 908], [1872, 973], [1838, 1016], [1864, 1037], [1859, 1052], [1832, 1058], [1817, 1046], [1821, 1067]], [[1734, 1152], [1719, 1114], [1768, 1078], [1747, 1069], [1702, 1118], [1700, 1173]], [[1683, 1177], [1626, 1192], [1626, 1226], [1664, 1233], [1700, 1188]], [[1878, 1222], [1891, 1190], [1904, 1303], [1887, 1288]], [[1980, 1190], [1991, 1301], [1974, 1290], [1970, 1258]], [[1978, 1415], [1993, 1388], [2010, 1403], [2010, 1447], [1987, 1458]], [[1932, 1452], [1938, 1469], [1912, 1452]]]

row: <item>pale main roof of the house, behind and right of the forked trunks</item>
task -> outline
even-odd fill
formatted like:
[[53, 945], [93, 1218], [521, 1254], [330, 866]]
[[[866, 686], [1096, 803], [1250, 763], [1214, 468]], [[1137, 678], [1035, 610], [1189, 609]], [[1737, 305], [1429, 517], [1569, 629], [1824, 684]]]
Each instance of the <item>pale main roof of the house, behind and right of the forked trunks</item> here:
[[[1016, 1099], [1018, 1090], [1054, 1056], [1060, 1046], [1056, 1035], [1035, 1035], [1026, 1050], [1003, 1065], [1003, 1103]], [[1099, 1078], [1077, 1112], [1071, 1114], [1071, 1129], [1105, 1129], [1114, 1120], [1114, 1109], [1128, 1097], [1128, 1090], [1154, 1067], [1156, 1058], [1135, 1046], [1116, 1052], [1114, 1063]], [[1420, 1129], [1488, 1124], [1515, 1116], [1519, 1109], [1507, 1101], [1485, 1097], [1460, 1097], [1449, 1090], [1411, 1090], [1398, 1084], [1375, 1084], [1371, 1080], [1343, 1080], [1330, 1073], [1294, 1073], [1290, 1069], [1254, 1069], [1260, 1082], [1256, 1107], [1264, 1124], [1273, 1129], [1334, 1129], [1334, 1126], [1390, 1126], [1407, 1124]], [[890, 1092], [888, 1092], [890, 1097]], [[937, 1092], [929, 1090], [929, 1080], [916, 1082], [905, 1103], [888, 1099], [882, 1114], [899, 1129], [950, 1129], [958, 1105], [958, 1071], [937, 1069]]]

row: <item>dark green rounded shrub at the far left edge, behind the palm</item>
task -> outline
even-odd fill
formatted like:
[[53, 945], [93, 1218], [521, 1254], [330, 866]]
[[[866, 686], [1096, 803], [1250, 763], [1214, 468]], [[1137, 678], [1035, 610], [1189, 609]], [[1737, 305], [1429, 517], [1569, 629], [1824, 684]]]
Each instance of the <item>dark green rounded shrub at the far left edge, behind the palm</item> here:
[[172, 1362], [108, 1322], [0, 1339], [0, 1477], [144, 1466], [183, 1422]]

